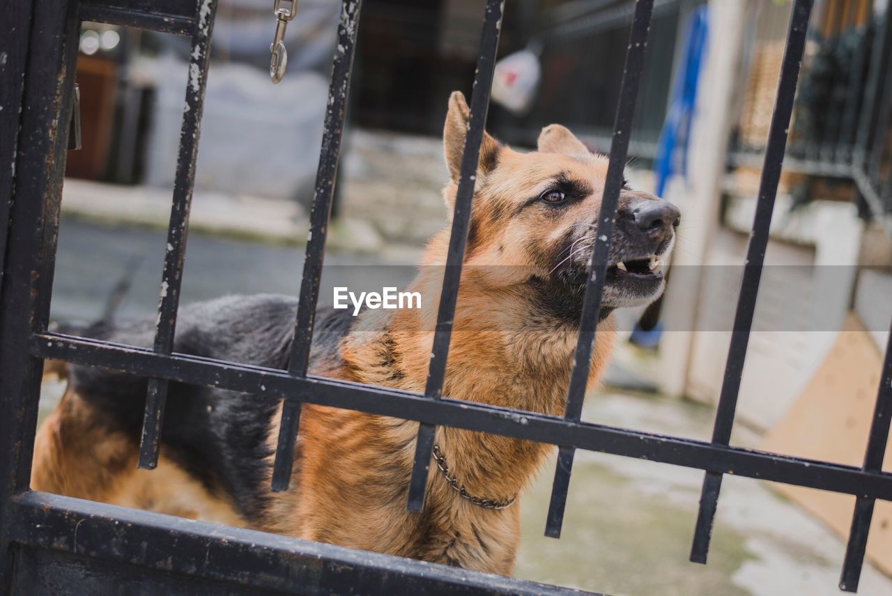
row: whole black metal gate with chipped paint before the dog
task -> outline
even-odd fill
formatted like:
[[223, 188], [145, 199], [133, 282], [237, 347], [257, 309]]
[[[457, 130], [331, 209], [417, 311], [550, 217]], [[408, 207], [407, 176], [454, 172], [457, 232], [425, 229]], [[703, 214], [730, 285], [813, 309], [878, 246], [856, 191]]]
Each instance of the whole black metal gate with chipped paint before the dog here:
[[[753, 321], [772, 206], [812, 0], [796, 0], [789, 23], [756, 217], [731, 337], [714, 435], [709, 443], [583, 423], [582, 396], [598, 322], [609, 238], [655, 0], [638, 0], [626, 54], [610, 166], [592, 255], [579, 344], [564, 418], [442, 396], [450, 325], [467, 239], [474, 172], [489, 103], [504, 3], [486, 0], [471, 120], [462, 161], [449, 260], [424, 394], [308, 375], [326, 228], [361, 0], [343, 0], [319, 156], [310, 240], [288, 370], [171, 352], [186, 249], [204, 83], [216, 0], [4, 0], [0, 21], [0, 587], [4, 593], [551, 593], [563, 589], [495, 575], [349, 550], [273, 534], [215, 526], [29, 491], [37, 400], [45, 358], [134, 373], [151, 380], [140, 464], [153, 467], [170, 381], [253, 393], [285, 407], [273, 490], [289, 482], [301, 403], [418, 420], [408, 507], [420, 509], [435, 425], [457, 426], [558, 445], [546, 534], [560, 534], [574, 452], [603, 451], [706, 472], [691, 560], [706, 561], [724, 474], [797, 484], [857, 497], [840, 587], [854, 592], [874, 501], [892, 501], [892, 474], [880, 471], [892, 417], [892, 350], [885, 366], [862, 468], [729, 445]], [[62, 173], [68, 142], [80, 21], [103, 21], [191, 37], [190, 76], [152, 350], [47, 330]], [[877, 67], [882, 74], [885, 66]], [[888, 87], [888, 86], [887, 86]], [[885, 98], [885, 95], [883, 95]], [[871, 99], [868, 97], [868, 99]], [[872, 101], [872, 100], [871, 100]]]

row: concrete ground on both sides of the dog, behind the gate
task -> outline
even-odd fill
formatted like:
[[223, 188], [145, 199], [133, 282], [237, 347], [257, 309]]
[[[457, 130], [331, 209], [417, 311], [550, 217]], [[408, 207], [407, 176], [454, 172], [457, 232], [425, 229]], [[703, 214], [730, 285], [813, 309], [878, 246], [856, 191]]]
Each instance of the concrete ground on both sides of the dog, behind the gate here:
[[[150, 315], [157, 302], [164, 236], [152, 228], [62, 221], [54, 284], [55, 319], [96, 319], [125, 271], [131, 286], [121, 317]], [[391, 244], [388, 244], [390, 246]], [[414, 249], [417, 252], [417, 247]], [[333, 251], [326, 266], [410, 261], [410, 251]], [[302, 251], [193, 233], [183, 301], [220, 294], [296, 294]], [[623, 354], [624, 362], [634, 361]], [[42, 410], [60, 387], [48, 386]], [[602, 391], [590, 396], [585, 418], [599, 423], [705, 439], [713, 412], [686, 401]], [[738, 433], [736, 444], [753, 437]], [[522, 501], [523, 534], [516, 575], [627, 596], [799, 596], [839, 593], [844, 543], [768, 484], [727, 476], [709, 563], [688, 562], [702, 472], [637, 459], [577, 454], [563, 536], [542, 533], [554, 462]], [[869, 565], [859, 593], [892, 594], [892, 581]]]

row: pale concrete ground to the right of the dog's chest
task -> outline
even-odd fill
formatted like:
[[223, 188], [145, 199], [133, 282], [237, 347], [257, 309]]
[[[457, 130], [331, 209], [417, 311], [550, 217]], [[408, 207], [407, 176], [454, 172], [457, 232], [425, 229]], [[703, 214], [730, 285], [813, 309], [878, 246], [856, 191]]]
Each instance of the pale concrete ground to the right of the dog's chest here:
[[[590, 395], [583, 413], [591, 422], [701, 440], [712, 417], [700, 404], [609, 389]], [[732, 443], [752, 440], [739, 432]], [[579, 451], [556, 541], [543, 535], [553, 470], [549, 462], [523, 503], [521, 577], [614, 596], [842, 593], [845, 543], [769, 483], [725, 476], [702, 566], [688, 561], [702, 472]], [[858, 593], [892, 594], [892, 580], [865, 564]]]

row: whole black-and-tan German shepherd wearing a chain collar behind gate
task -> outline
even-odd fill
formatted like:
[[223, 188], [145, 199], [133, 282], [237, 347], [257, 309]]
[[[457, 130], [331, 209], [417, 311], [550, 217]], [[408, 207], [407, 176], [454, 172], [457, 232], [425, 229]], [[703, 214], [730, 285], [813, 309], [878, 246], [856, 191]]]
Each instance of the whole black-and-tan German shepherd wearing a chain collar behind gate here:
[[[467, 122], [465, 97], [454, 93], [443, 134], [450, 211]], [[563, 126], [543, 128], [531, 153], [484, 133], [444, 395], [563, 415], [606, 174], [607, 159]], [[671, 203], [624, 187], [590, 385], [610, 354], [612, 311], [662, 293], [660, 261], [679, 217]], [[449, 236], [434, 236], [409, 285], [425, 308], [320, 312], [310, 372], [423, 392]], [[287, 368], [296, 307], [275, 295], [184, 307], [175, 351]], [[85, 335], [149, 346], [153, 321], [100, 324]], [[486, 572], [511, 573], [518, 495], [551, 449], [438, 426], [424, 510], [411, 513], [417, 422], [304, 404], [291, 488], [272, 493], [275, 402], [171, 384], [150, 472], [136, 468], [145, 378], [77, 366], [68, 378], [37, 436], [35, 490]]]

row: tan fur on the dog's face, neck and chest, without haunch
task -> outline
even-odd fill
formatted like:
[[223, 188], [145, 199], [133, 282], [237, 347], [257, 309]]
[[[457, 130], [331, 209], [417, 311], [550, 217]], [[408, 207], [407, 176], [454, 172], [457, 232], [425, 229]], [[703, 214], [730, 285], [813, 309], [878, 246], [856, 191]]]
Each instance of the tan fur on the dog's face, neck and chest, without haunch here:
[[[453, 95], [444, 131], [452, 177], [444, 195], [450, 206], [457, 190], [465, 119], [464, 98]], [[526, 247], [554, 242], [574, 221], [555, 225], [535, 218], [525, 222], [512, 219], [508, 226], [507, 218], [491, 218], [492, 209], [501, 203], [510, 209], [516, 197], [541, 193], [541, 178], [549, 171], [573, 170], [591, 179], [596, 188], [603, 186], [607, 161], [597, 160], [588, 152], [569, 159], [560, 153], [516, 153], [486, 135], [481, 163], [491, 160], [491, 151], [499, 152], [498, 167], [477, 171], [478, 177], [487, 177], [485, 185], [477, 185], [487, 192], [475, 197], [479, 241], [468, 247], [443, 394], [563, 415], [578, 334], [570, 327], [543, 331], [527, 326], [528, 303], [520, 294], [525, 292], [521, 281], [529, 270], [547, 267], [537, 262]], [[584, 215], [584, 208], [580, 209], [579, 217], [591, 218], [591, 205], [587, 208]], [[449, 236], [448, 228], [434, 236], [421, 271], [408, 288], [425, 296], [425, 308], [368, 310], [343, 344], [343, 367], [319, 370], [317, 374], [424, 391]], [[389, 330], [387, 337], [384, 329]], [[612, 319], [599, 326], [592, 355], [592, 385], [607, 363], [614, 335]], [[391, 368], [380, 366], [386, 342], [396, 346], [392, 368], [402, 373], [398, 382], [390, 380]], [[520, 540], [519, 504], [503, 510], [477, 507], [459, 498], [435, 466], [428, 476], [421, 515], [427, 518], [425, 526], [432, 534], [458, 540], [451, 548], [448, 541], [446, 548], [442, 547], [443, 541], [431, 541], [436, 547], [425, 551], [425, 536], [418, 535], [417, 514], [406, 510], [417, 423], [308, 406], [304, 412], [301, 457], [295, 459], [300, 461], [295, 469], [300, 485], [277, 495], [269, 529], [482, 571], [511, 572]], [[275, 436], [270, 435], [271, 445]], [[497, 500], [521, 493], [553, 449], [541, 443], [443, 426], [437, 428], [436, 442], [469, 493]]]

